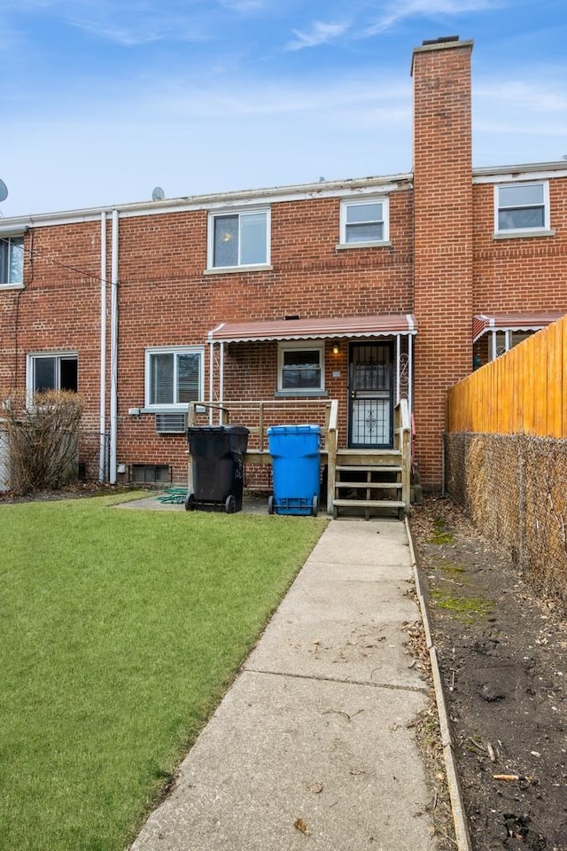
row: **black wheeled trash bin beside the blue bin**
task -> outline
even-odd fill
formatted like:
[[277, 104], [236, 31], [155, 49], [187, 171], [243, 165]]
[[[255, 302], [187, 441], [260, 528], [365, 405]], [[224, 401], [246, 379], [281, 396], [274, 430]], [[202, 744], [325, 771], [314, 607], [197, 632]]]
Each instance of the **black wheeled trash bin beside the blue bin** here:
[[242, 510], [244, 456], [248, 446], [245, 426], [193, 426], [187, 429], [192, 486], [187, 511]]

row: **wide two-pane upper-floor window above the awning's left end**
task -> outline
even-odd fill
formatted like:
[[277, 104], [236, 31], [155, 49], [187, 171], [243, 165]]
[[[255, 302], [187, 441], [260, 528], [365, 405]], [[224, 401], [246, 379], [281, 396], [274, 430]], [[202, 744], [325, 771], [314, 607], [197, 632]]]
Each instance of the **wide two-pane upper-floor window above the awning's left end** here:
[[269, 262], [269, 211], [221, 213], [209, 219], [209, 269]]

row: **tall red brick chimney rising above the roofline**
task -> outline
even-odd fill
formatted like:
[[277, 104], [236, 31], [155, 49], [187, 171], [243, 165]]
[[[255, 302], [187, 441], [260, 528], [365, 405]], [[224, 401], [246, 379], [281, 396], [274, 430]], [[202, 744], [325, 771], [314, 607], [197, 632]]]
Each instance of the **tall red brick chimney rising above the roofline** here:
[[416, 458], [442, 484], [447, 387], [472, 363], [472, 42], [449, 36], [413, 53]]

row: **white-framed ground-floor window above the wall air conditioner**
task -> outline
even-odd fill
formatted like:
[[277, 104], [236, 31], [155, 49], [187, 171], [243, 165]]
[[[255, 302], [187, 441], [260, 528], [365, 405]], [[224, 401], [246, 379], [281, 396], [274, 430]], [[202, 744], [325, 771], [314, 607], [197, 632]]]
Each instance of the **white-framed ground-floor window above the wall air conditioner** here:
[[185, 410], [203, 398], [203, 349], [148, 348], [145, 353], [145, 407]]

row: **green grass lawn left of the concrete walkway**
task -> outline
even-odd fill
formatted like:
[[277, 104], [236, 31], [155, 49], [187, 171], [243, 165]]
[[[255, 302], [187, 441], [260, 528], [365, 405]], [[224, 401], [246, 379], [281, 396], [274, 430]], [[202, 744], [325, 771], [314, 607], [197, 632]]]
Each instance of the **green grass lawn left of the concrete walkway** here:
[[0, 505], [0, 848], [133, 839], [324, 528]]

